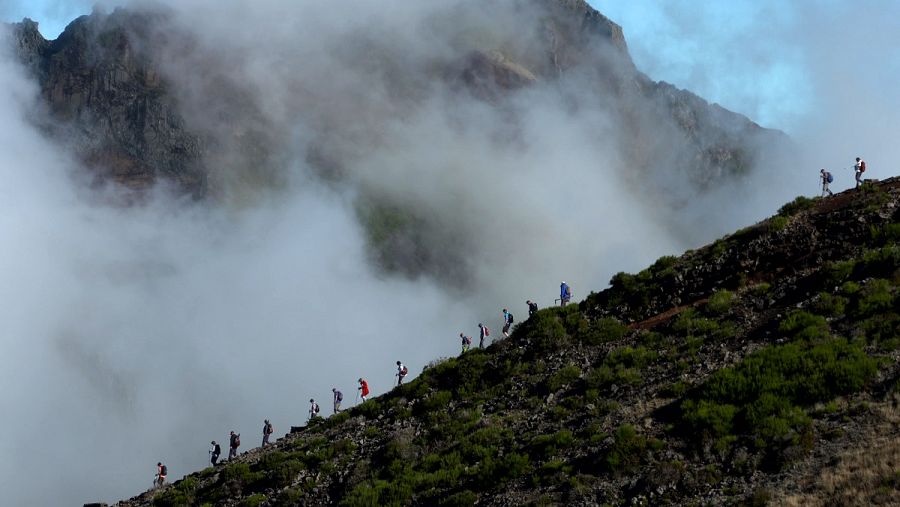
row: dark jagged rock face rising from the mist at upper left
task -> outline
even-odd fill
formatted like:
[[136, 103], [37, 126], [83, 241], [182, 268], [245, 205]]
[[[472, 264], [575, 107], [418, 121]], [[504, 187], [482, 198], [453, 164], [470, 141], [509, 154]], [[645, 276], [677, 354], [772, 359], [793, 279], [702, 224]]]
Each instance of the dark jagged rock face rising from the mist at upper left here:
[[54, 41], [15, 25], [18, 53], [40, 84], [49, 117], [37, 118], [96, 171], [134, 189], [160, 181], [205, 191], [200, 139], [184, 124], [147, 41], [161, 15], [117, 10], [82, 16]]

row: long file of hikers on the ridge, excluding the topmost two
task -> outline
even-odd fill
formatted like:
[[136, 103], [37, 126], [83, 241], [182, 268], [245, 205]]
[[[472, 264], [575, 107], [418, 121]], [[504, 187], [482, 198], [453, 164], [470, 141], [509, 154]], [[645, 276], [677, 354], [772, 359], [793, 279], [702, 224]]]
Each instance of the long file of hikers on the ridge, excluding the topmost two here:
[[[823, 169], [824, 171], [824, 169]], [[572, 299], [572, 289], [569, 285], [563, 281], [559, 284], [559, 299], [555, 300], [555, 302], [559, 303], [560, 306], [565, 306]], [[538, 305], [537, 303], [532, 302], [530, 299], [525, 301], [525, 304], [528, 305], [528, 317], [530, 318], [532, 315], [537, 313]], [[503, 336], [509, 337], [510, 330], [512, 328], [513, 323], [515, 322], [515, 318], [512, 313], [509, 312], [506, 308], [503, 309]], [[478, 347], [484, 348], [484, 340], [485, 338], [490, 337], [491, 331], [487, 326], [478, 323], [479, 330], [479, 341]], [[462, 338], [462, 351], [467, 352], [469, 347], [472, 345], [472, 338], [466, 336], [464, 333], [459, 333], [460, 338]], [[397, 385], [403, 385], [403, 379], [409, 375], [409, 368], [406, 367], [402, 362], [397, 361], [397, 373], [394, 374], [397, 377]], [[366, 379], [360, 377], [357, 380], [359, 386], [356, 388], [356, 394], [359, 399], [365, 403], [369, 396], [369, 382]], [[341, 412], [341, 403], [344, 401], [344, 393], [339, 391], [336, 387], [331, 388], [332, 394], [332, 402], [334, 414], [339, 414]], [[320, 408], [319, 404], [316, 403], [314, 398], [309, 399], [309, 421], [312, 421], [319, 416]], [[265, 447], [269, 445], [269, 437], [275, 433], [275, 427], [272, 423], [265, 419], [263, 421], [263, 439], [261, 447]], [[228, 436], [228, 460], [232, 460], [238, 455], [238, 448], [241, 446], [241, 434], [235, 433], [231, 431]], [[219, 463], [219, 456], [222, 454], [222, 446], [220, 446], [215, 440], [210, 442], [209, 449], [209, 463], [212, 466], [216, 466]], [[162, 462], [156, 464], [156, 475], [153, 479], [153, 487], [159, 488], [162, 487], [166, 482], [166, 476], [168, 475], [168, 469], [166, 465], [163, 465]]]

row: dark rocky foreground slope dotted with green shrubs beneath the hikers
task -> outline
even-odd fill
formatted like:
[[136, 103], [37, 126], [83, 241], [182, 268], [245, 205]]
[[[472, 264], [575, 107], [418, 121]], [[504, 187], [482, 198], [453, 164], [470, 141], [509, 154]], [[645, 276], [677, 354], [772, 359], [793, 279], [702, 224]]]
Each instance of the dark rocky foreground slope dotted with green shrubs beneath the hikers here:
[[798, 198], [119, 505], [896, 505], [898, 240], [900, 179]]

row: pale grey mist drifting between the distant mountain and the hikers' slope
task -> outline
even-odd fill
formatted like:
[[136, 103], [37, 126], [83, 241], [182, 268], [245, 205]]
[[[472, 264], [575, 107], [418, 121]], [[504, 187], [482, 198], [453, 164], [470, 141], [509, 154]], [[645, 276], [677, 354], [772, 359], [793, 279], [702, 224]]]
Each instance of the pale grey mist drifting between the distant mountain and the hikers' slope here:
[[[502, 100], [430, 73], [474, 41], [527, 61], [539, 13], [523, 3], [161, 5], [169, 23], [146, 49], [215, 141], [208, 200], [160, 186], [110, 205], [122, 189], [85, 188], [86, 169], [33, 126], [36, 85], [0, 61], [4, 503], [129, 497], [157, 461], [177, 480], [229, 430], [256, 446], [264, 418], [281, 435], [311, 397], [328, 414], [333, 386], [352, 405], [360, 376], [383, 393], [394, 361], [416, 374], [458, 353], [459, 332], [499, 328], [501, 308], [523, 320], [525, 299], [552, 304], [563, 279], [581, 299], [815, 190], [817, 168], [781, 159], [707, 192], [664, 164], [629, 172], [614, 105], [582, 93], [590, 69]], [[785, 43], [812, 55], [814, 75], [834, 70], [812, 33]], [[816, 97], [854, 104], [817, 82]], [[843, 156], [841, 132], [791, 133], [804, 152]], [[877, 171], [889, 154], [870, 150]], [[360, 220], [373, 197], [419, 210], [436, 270], [373, 262]]]

